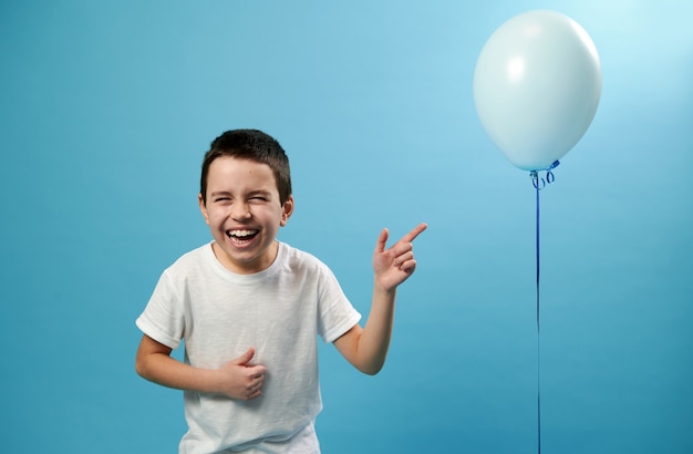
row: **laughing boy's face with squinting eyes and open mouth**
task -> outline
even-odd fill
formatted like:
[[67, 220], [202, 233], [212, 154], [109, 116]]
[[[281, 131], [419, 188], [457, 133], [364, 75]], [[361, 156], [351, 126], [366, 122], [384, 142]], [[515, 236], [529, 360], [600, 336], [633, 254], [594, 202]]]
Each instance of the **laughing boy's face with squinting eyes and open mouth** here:
[[267, 164], [223, 156], [211, 162], [207, 203], [199, 208], [215, 239], [219, 261], [237, 274], [268, 268], [277, 256], [275, 241], [293, 211], [293, 197], [281, 205]]

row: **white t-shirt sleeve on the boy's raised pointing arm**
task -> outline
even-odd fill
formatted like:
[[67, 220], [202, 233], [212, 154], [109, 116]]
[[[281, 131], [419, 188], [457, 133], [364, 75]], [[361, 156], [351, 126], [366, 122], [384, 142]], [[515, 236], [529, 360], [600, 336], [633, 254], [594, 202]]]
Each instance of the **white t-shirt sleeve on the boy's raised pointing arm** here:
[[328, 343], [338, 340], [361, 320], [361, 313], [351, 305], [332, 271], [324, 266], [321, 272], [318, 333]]

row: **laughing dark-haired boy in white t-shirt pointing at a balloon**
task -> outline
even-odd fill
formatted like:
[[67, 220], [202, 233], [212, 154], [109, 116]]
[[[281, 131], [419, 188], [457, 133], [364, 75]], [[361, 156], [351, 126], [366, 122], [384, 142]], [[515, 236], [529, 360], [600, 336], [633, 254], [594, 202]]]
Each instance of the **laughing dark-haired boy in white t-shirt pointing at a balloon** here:
[[[199, 208], [213, 241], [164, 271], [136, 321], [135, 369], [184, 390], [180, 453], [319, 453], [322, 402], [317, 336], [358, 370], [377, 373], [392, 333], [396, 287], [416, 267], [418, 225], [373, 255], [365, 328], [330, 269], [277, 240], [293, 213], [289, 161], [256, 130], [217, 137], [203, 162]], [[170, 357], [185, 339], [183, 362]]]

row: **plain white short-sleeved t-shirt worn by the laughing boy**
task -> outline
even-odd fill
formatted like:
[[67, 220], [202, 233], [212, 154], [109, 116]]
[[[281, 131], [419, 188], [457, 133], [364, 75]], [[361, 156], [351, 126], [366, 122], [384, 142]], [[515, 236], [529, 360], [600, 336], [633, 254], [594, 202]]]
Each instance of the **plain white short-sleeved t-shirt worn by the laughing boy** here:
[[304, 433], [322, 410], [317, 337], [333, 342], [360, 319], [332, 271], [287, 244], [255, 275], [226, 269], [211, 244], [180, 257], [159, 278], [137, 327], [172, 349], [185, 340], [185, 362], [196, 368], [218, 369], [249, 347], [251, 363], [267, 368], [255, 400], [185, 391], [180, 453], [234, 452]]

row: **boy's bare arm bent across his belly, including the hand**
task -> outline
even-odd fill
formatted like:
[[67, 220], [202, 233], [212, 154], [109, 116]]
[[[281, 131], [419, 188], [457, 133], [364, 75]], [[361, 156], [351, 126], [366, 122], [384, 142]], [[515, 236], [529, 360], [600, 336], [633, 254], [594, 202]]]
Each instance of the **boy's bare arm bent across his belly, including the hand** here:
[[194, 368], [170, 357], [170, 348], [144, 334], [137, 349], [135, 370], [155, 383], [178, 390], [220, 393], [250, 400], [262, 393], [265, 367], [252, 365], [255, 349], [217, 370]]

